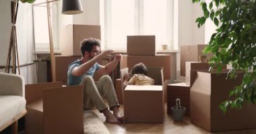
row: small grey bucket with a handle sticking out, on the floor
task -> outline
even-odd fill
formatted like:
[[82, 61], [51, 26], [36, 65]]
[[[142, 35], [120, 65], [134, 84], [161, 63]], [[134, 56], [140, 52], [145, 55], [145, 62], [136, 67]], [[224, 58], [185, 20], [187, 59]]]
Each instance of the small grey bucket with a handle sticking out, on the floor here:
[[186, 108], [181, 107], [181, 99], [176, 98], [176, 107], [171, 107], [170, 109], [172, 109], [174, 121], [183, 121], [183, 116], [185, 114]]

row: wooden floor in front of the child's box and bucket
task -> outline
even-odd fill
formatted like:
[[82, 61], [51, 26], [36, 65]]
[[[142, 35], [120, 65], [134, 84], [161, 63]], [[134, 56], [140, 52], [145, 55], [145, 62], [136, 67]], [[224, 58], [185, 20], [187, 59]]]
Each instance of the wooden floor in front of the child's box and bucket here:
[[[123, 114], [123, 105], [120, 107], [121, 113]], [[189, 134], [207, 134], [210, 133], [205, 129], [201, 129], [196, 125], [191, 124], [190, 118], [185, 117], [182, 122], [174, 122], [172, 115], [167, 115], [166, 105], [164, 111], [164, 123], [163, 124], [153, 124], [153, 123], [125, 123], [120, 125], [113, 125], [106, 123], [104, 115], [100, 114], [98, 110], [94, 112], [100, 117], [104, 122], [110, 133], [189, 133]], [[247, 129], [242, 131], [224, 131], [218, 132], [217, 134], [256, 134], [256, 129]]]

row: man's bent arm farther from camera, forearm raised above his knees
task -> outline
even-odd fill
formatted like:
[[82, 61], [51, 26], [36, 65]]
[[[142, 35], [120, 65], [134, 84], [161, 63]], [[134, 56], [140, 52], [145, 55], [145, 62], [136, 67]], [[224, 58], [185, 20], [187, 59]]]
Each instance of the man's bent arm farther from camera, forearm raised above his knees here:
[[106, 64], [106, 66], [101, 66], [98, 72], [100, 72], [101, 74], [108, 74], [112, 72], [117, 67], [117, 64], [122, 59], [122, 57], [123, 56], [121, 54], [116, 54], [114, 60]]

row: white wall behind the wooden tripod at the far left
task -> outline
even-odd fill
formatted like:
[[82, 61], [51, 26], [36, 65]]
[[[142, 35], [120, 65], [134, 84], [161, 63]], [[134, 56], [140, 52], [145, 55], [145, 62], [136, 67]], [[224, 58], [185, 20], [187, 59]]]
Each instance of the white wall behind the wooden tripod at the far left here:
[[[5, 66], [7, 61], [7, 52], [9, 49], [9, 38], [11, 35], [11, 1], [0, 1], [0, 17], [2, 18], [0, 21], [0, 66]], [[34, 59], [31, 4], [19, 3], [16, 30], [20, 65], [30, 64]], [[36, 71], [34, 66], [35, 65], [33, 64], [30, 66], [20, 67], [20, 74], [24, 76], [26, 83], [36, 82]], [[1, 69], [0, 72], [4, 72], [4, 69]]]

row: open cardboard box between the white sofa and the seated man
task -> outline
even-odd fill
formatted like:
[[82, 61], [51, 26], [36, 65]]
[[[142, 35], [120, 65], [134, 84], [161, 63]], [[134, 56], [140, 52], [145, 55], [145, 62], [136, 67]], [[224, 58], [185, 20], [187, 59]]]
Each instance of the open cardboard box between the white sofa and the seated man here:
[[26, 133], [84, 133], [83, 88], [61, 82], [26, 84]]

